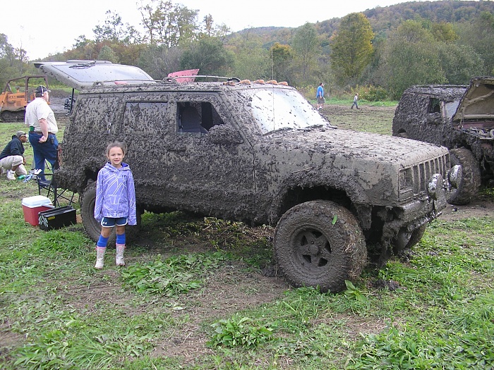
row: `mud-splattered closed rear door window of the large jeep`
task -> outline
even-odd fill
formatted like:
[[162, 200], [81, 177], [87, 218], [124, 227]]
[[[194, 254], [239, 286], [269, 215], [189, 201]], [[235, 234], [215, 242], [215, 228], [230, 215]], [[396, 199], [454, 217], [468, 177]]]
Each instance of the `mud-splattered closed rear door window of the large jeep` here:
[[127, 101], [123, 113], [123, 127], [128, 134], [166, 130], [167, 101]]

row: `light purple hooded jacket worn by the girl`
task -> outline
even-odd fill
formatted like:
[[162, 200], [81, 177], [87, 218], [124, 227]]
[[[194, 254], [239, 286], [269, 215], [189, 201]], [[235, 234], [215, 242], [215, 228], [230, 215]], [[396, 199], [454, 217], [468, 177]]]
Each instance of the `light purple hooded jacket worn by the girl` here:
[[95, 218], [127, 217], [128, 225], [136, 225], [134, 178], [128, 164], [115, 168], [107, 163], [98, 172]]

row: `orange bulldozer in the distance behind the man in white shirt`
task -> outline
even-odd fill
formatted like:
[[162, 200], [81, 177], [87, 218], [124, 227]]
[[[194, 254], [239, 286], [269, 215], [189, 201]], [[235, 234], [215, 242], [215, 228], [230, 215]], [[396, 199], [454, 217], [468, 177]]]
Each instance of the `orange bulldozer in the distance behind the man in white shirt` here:
[[[29, 85], [32, 91], [29, 91]], [[8, 80], [0, 94], [0, 121], [24, 121], [25, 107], [35, 99], [35, 88], [39, 85], [48, 87], [46, 75], [27, 75]]]

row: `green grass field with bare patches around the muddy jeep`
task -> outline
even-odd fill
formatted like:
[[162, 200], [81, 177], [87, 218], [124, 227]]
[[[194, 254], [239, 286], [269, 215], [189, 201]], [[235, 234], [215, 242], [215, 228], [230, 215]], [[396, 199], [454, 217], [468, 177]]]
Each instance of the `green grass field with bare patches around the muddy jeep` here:
[[[394, 107], [361, 108], [324, 113], [390, 135]], [[19, 129], [0, 123], [0, 142]], [[24, 222], [35, 183], [0, 187], [0, 369], [494, 368], [492, 208], [438, 219], [406, 259], [321, 294], [276, 276], [269, 226], [179, 212], [144, 214], [127, 266], [109, 247], [98, 271], [80, 223]]]

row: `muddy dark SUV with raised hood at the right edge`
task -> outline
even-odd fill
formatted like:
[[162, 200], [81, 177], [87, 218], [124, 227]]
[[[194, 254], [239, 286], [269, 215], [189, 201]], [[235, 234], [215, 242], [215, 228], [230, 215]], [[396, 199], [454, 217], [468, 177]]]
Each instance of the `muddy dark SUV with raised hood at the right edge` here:
[[394, 113], [394, 136], [443, 145], [463, 180], [449, 202], [466, 204], [481, 180], [494, 178], [494, 77], [477, 77], [469, 86], [410, 87]]

